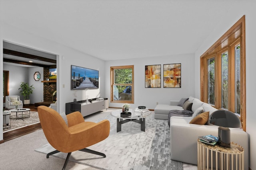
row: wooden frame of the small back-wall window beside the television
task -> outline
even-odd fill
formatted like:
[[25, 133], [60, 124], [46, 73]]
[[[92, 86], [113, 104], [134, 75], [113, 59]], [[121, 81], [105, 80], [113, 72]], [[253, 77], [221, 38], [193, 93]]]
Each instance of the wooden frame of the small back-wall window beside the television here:
[[[132, 84], [114, 84], [114, 70], [132, 68]], [[132, 86], [132, 100], [114, 100], [113, 87], [114, 85]], [[134, 65], [128, 66], [111, 66], [110, 67], [110, 102], [112, 103], [130, 103], [134, 104]]]

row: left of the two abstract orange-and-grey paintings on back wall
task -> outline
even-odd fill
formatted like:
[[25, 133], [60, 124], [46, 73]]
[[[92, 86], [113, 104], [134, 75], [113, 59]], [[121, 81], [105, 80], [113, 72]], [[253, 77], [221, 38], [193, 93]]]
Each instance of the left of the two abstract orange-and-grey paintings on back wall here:
[[145, 88], [161, 88], [161, 65], [145, 66]]

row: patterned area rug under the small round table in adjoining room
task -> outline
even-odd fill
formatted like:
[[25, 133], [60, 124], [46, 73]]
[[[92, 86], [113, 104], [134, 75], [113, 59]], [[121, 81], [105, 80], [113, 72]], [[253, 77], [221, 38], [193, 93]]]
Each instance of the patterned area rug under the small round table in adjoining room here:
[[[29, 115], [29, 111], [24, 111], [23, 115], [24, 117], [26, 117], [25, 115]], [[17, 120], [16, 120], [16, 112], [11, 112], [11, 117], [12, 118], [10, 119], [10, 123], [9, 123], [11, 127], [8, 129], [3, 129], [4, 132], [40, 122], [37, 111], [30, 111], [30, 117], [17, 119]], [[18, 117], [21, 117], [21, 113], [18, 113]]]

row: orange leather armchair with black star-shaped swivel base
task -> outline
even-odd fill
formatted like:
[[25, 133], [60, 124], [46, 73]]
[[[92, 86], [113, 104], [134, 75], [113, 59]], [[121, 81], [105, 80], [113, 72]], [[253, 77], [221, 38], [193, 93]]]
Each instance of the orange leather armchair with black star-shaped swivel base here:
[[57, 111], [46, 106], [38, 107], [38, 115], [47, 141], [56, 149], [48, 153], [46, 158], [58, 152], [68, 153], [63, 170], [66, 168], [71, 152], [76, 150], [106, 157], [104, 153], [86, 149], [86, 147], [103, 141], [108, 137], [110, 131], [108, 120], [103, 120], [99, 123], [86, 122], [82, 114], [79, 111], [75, 111], [66, 115], [68, 119], [68, 125], [66, 125]]

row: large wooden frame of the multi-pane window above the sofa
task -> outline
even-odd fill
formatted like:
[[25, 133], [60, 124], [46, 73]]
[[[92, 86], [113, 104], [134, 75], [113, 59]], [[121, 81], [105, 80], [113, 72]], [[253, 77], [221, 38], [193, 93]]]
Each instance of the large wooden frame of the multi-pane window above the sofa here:
[[[229, 63], [235, 62], [234, 58], [234, 47], [240, 43], [240, 115], [238, 117], [242, 123], [242, 129], [246, 131], [246, 54], [245, 54], [245, 16], [242, 16], [240, 20], [238, 20], [220, 39], [218, 39], [204, 54], [200, 57], [200, 99], [203, 102], [208, 103], [208, 81], [207, 79], [207, 68], [208, 64], [206, 64], [209, 57], [215, 55], [215, 75], [219, 78], [215, 77], [215, 106], [217, 109], [220, 109], [221, 104], [221, 93], [220, 89], [222, 87], [220, 81], [220, 75], [218, 70], [220, 68], [220, 58], [218, 57], [218, 53], [223, 52], [224, 49], [228, 49], [228, 61]], [[230, 75], [234, 75], [234, 64], [228, 65], [228, 70]], [[220, 71], [219, 71], [220, 72]], [[217, 75], [218, 74], [218, 75]], [[234, 84], [235, 78], [234, 76], [229, 76], [228, 83], [229, 83], [229, 95], [228, 95], [228, 108], [232, 112], [236, 112], [234, 106], [235, 102], [234, 98]]]

